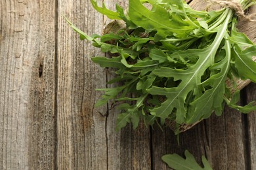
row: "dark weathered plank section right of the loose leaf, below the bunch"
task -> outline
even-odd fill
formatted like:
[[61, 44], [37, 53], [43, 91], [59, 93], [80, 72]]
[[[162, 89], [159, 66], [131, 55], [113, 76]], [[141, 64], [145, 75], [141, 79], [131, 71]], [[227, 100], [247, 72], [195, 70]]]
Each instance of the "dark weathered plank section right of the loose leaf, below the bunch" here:
[[206, 120], [209, 152], [207, 157], [213, 169], [245, 169], [245, 134], [243, 114], [226, 108], [223, 116], [211, 116]]

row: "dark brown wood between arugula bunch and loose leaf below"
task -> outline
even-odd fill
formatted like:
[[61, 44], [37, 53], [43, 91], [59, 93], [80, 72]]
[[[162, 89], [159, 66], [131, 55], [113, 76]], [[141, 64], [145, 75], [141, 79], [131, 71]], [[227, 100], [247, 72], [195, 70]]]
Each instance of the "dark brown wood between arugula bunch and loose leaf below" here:
[[169, 127], [163, 127], [163, 131], [154, 126], [152, 130], [152, 159], [154, 169], [169, 169], [163, 161], [161, 156], [164, 154], [184, 154], [184, 150], [189, 150], [200, 163], [201, 156], [205, 155], [205, 148], [208, 148], [207, 141], [203, 135], [204, 122], [192, 127], [179, 135], [179, 142], [177, 136]]

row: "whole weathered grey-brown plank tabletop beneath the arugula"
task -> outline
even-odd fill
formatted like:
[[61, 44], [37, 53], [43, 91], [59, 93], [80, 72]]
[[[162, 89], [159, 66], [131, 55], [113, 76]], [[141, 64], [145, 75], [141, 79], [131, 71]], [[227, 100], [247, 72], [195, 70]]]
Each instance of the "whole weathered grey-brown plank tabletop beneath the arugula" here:
[[[190, 5], [205, 8], [200, 0]], [[104, 54], [79, 41], [62, 14], [89, 35], [110, 22], [89, 0], [1, 0], [0, 169], [169, 169], [161, 156], [185, 149], [214, 169], [256, 169], [256, 112], [226, 108], [181, 133], [179, 145], [167, 127], [116, 132], [117, 112], [94, 107], [101, 95], [94, 89], [111, 75], [90, 57]], [[255, 23], [240, 29], [256, 42]], [[256, 100], [255, 92], [246, 86], [241, 104]]]

